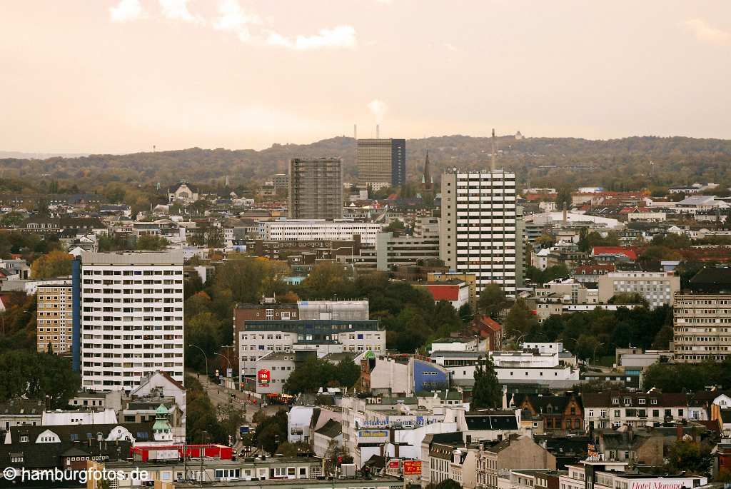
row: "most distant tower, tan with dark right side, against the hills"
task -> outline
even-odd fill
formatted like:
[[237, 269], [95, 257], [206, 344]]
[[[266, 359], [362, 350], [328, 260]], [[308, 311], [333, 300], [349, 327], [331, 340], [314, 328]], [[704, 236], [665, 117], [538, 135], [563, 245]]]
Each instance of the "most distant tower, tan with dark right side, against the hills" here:
[[406, 183], [406, 140], [357, 140], [358, 181], [378, 190]]

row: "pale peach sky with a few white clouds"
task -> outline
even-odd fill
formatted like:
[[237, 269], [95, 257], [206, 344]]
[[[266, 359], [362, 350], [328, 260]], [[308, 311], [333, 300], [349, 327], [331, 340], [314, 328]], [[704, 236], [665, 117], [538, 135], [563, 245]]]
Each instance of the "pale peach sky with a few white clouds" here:
[[0, 0], [0, 150], [731, 138], [731, 1]]

